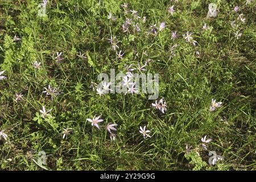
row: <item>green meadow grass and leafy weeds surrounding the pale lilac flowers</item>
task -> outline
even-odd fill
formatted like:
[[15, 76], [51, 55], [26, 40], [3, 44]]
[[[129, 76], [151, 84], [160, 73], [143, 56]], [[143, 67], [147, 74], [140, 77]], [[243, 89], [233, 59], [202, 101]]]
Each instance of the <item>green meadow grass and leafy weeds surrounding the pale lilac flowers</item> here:
[[[0, 71], [6, 76], [0, 80], [0, 131], [8, 136], [0, 136], [0, 169], [255, 170], [256, 16], [255, 1], [246, 2], [49, 0], [41, 17], [42, 1], [0, 0]], [[217, 17], [207, 18], [209, 3], [218, 6]], [[123, 32], [126, 18], [135, 27]], [[166, 26], [159, 31], [161, 22]], [[148, 32], [154, 24], [156, 34]], [[187, 32], [195, 46], [184, 39]], [[56, 52], [62, 52], [60, 63]], [[154, 109], [147, 94], [99, 96], [92, 89], [100, 73], [125, 73], [126, 65], [147, 60], [145, 73], [159, 73], [158, 100], [166, 101], [166, 113]], [[46, 96], [48, 85], [59, 94]], [[16, 101], [17, 93], [23, 97]], [[209, 111], [212, 98], [222, 106]], [[51, 116], [41, 116], [42, 106]], [[98, 115], [100, 130], [86, 120]], [[118, 124], [115, 140], [105, 129], [110, 122]], [[140, 126], [151, 138], [143, 138]], [[212, 139], [207, 150], [201, 147], [205, 135]], [[46, 165], [38, 164], [39, 151], [46, 152]], [[210, 165], [209, 151], [222, 160]]]

